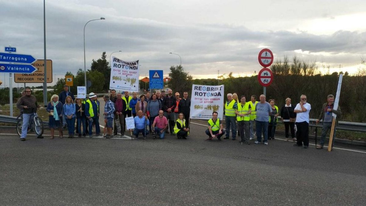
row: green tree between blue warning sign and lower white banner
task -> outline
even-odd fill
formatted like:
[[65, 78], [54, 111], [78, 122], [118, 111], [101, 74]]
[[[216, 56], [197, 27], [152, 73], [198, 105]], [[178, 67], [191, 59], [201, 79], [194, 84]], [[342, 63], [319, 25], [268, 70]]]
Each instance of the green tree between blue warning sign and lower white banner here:
[[169, 77], [171, 78], [169, 87], [174, 92], [182, 94], [184, 91], [192, 90], [192, 76], [188, 75], [182, 66], [171, 66]]

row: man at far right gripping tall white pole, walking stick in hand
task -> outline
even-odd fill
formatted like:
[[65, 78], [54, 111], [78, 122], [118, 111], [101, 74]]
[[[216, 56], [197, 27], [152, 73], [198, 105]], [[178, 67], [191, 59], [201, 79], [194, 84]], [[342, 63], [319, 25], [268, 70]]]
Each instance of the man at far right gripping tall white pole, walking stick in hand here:
[[[320, 120], [323, 122], [322, 132], [320, 137], [320, 144], [317, 145], [317, 149], [322, 149], [325, 142], [325, 136], [328, 133], [328, 130], [331, 130], [332, 121], [333, 121], [333, 113], [337, 115], [341, 115], [341, 109], [338, 106], [337, 110], [334, 110], [334, 96], [328, 95], [327, 97], [328, 102], [324, 103], [322, 106], [322, 110], [320, 113], [320, 117], [316, 120], [318, 123]], [[336, 118], [336, 126], [338, 126], [338, 118]], [[333, 129], [333, 140], [332, 140], [332, 147], [334, 146], [334, 140], [336, 136], [336, 128]]]

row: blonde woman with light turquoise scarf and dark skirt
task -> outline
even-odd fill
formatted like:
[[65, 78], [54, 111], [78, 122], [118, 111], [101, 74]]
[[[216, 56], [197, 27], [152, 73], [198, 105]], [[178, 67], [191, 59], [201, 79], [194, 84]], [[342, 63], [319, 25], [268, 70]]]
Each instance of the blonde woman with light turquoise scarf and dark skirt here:
[[52, 95], [51, 101], [48, 103], [46, 110], [48, 111], [48, 127], [51, 130], [50, 139], [54, 138], [55, 128], [59, 129], [60, 138], [63, 138], [60, 121], [62, 121], [64, 109], [62, 103], [59, 102], [58, 95]]

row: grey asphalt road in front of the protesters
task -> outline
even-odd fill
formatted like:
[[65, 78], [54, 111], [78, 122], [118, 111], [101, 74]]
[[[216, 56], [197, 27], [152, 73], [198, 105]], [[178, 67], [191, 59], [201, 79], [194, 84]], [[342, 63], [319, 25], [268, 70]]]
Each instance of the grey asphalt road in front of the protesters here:
[[191, 124], [187, 140], [0, 135], [0, 205], [365, 204], [365, 153], [204, 141], [205, 129]]

